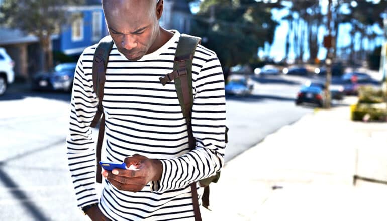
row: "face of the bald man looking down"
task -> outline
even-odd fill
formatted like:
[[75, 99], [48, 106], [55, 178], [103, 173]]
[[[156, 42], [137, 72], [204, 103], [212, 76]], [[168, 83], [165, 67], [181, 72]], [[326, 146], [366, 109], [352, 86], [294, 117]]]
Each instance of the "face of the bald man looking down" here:
[[103, 7], [117, 50], [131, 61], [142, 58], [158, 34], [156, 1], [105, 0]]

